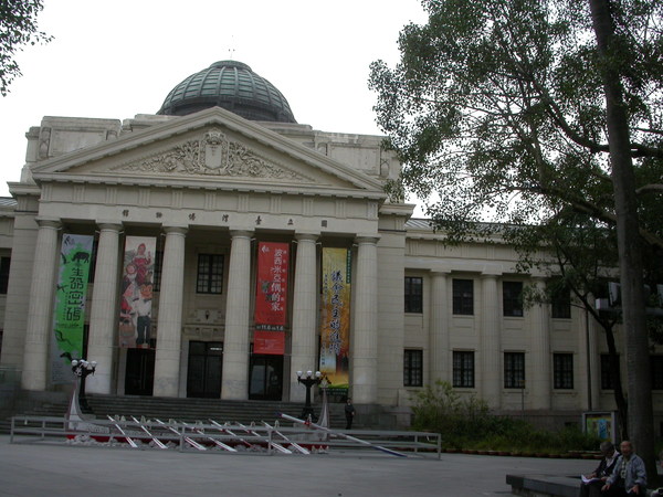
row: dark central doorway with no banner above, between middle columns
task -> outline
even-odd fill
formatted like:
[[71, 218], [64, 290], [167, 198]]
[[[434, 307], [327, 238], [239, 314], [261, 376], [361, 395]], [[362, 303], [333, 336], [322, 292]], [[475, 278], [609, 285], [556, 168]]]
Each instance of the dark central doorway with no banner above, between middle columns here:
[[190, 341], [187, 396], [219, 399], [222, 366], [222, 341]]

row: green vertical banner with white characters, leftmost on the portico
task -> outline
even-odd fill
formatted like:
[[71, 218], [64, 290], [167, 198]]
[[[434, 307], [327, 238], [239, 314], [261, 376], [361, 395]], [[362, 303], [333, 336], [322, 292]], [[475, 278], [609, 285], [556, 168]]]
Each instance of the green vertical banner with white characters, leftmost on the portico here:
[[60, 247], [60, 271], [53, 305], [51, 381], [71, 383], [72, 360], [83, 357], [85, 299], [94, 239], [64, 233]]

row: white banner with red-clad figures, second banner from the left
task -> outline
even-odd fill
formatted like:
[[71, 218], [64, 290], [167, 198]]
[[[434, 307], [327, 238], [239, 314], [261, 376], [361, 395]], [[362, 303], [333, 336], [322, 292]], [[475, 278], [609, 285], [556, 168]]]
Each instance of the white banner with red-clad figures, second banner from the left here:
[[119, 295], [119, 347], [150, 347], [157, 239], [127, 236]]

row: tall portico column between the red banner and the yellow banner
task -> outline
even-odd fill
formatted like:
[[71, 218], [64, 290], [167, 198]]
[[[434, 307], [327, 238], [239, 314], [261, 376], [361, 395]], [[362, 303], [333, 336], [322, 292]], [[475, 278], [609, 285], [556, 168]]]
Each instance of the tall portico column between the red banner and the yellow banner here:
[[304, 402], [306, 389], [297, 382], [296, 371], [315, 371], [317, 359], [317, 234], [299, 233], [293, 290], [293, 335], [291, 345], [291, 402]]

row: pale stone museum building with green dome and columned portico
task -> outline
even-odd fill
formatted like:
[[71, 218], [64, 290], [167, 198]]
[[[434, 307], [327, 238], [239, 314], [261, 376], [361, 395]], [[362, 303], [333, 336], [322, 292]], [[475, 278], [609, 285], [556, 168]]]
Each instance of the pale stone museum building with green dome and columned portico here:
[[560, 423], [614, 409], [603, 334], [570, 295], [524, 308], [545, 275], [498, 241], [446, 246], [385, 192], [382, 137], [297, 124], [246, 64], [192, 74], [155, 115], [25, 136], [0, 202], [0, 368], [23, 390], [64, 390], [85, 357], [103, 394], [302, 402], [297, 371], [319, 370], [385, 411], [435, 380]]

